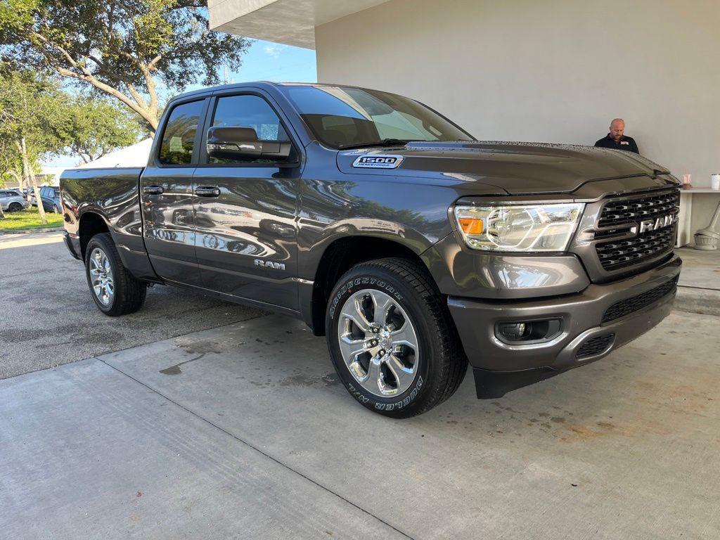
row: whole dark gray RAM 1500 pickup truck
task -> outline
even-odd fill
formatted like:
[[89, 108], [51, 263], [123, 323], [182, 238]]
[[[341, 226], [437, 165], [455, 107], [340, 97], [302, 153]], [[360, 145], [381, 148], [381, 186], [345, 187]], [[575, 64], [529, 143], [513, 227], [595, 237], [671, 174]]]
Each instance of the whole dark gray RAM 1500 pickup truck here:
[[300, 318], [395, 418], [472, 366], [500, 397], [668, 315], [678, 181], [619, 150], [474, 140], [412, 99], [252, 83], [172, 99], [145, 168], [68, 170], [66, 244], [106, 315], [149, 284]]

